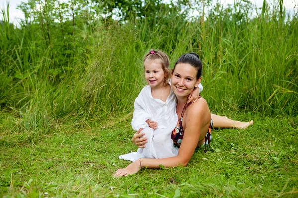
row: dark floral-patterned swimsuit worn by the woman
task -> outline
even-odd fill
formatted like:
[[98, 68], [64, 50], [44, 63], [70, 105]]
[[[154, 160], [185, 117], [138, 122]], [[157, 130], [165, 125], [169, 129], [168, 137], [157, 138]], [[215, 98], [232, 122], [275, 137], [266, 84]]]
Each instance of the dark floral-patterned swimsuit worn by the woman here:
[[[191, 105], [191, 104], [192, 103], [185, 104], [185, 106], [184, 106], [184, 108], [182, 110], [182, 113], [180, 115], [180, 118], [178, 119], [176, 128], [172, 131], [172, 140], [174, 141], [174, 145], [176, 147], [178, 147], [178, 148], [180, 147], [181, 142], [182, 142], [182, 139], [183, 139], [183, 136], [184, 136], [184, 129], [183, 129], [183, 126], [182, 126], [183, 115], [184, 115], [184, 112], [185, 112], [186, 108], [189, 105]], [[210, 122], [208, 131], [207, 131], [207, 134], [205, 136], [205, 142], [204, 142], [204, 144], [205, 144], [205, 152], [206, 152], [206, 144], [209, 144], [210, 141], [211, 141], [211, 127], [212, 127], [212, 120]], [[202, 140], [204, 140], [204, 138]], [[202, 140], [199, 140], [198, 142], [200, 142]], [[200, 146], [198, 148], [200, 148]]]

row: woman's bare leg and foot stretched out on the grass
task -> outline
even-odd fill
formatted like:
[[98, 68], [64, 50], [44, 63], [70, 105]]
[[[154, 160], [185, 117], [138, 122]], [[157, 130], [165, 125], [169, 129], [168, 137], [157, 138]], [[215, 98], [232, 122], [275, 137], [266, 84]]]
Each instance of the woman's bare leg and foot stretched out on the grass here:
[[242, 128], [245, 129], [249, 125], [253, 124], [253, 120], [250, 122], [240, 122], [231, 120], [225, 116], [219, 116], [211, 113], [211, 119], [213, 121], [213, 127], [215, 128]]

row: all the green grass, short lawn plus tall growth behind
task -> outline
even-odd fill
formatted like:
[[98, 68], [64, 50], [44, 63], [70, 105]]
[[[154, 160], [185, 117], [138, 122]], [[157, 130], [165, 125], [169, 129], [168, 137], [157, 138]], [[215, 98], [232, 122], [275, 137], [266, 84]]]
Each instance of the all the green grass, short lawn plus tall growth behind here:
[[[30, 4], [20, 27], [2, 10], [0, 197], [298, 197], [298, 15], [251, 17], [237, 2], [205, 20], [161, 10], [124, 22]], [[255, 124], [213, 130], [186, 168], [113, 178], [137, 149], [130, 121], [150, 49], [171, 66], [198, 53], [211, 112]]]

